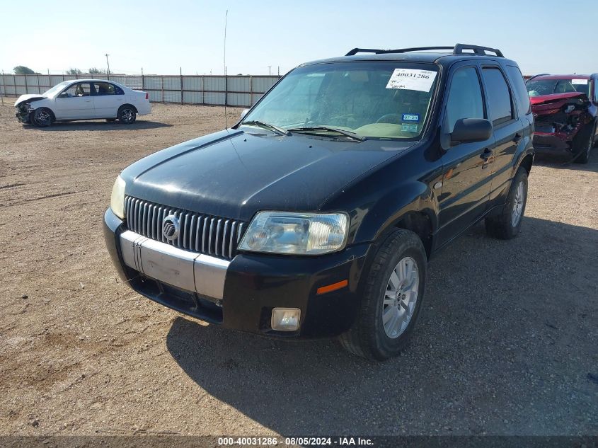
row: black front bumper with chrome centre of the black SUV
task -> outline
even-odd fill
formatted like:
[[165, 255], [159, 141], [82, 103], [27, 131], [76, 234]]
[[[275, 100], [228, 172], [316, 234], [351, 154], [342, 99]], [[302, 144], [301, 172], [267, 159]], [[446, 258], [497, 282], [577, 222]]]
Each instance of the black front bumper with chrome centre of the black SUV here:
[[[104, 236], [120, 277], [139, 294], [225, 328], [316, 338], [347, 331], [355, 320], [369, 244], [318, 257], [239, 253], [232, 260], [192, 253], [126, 229], [108, 209]], [[343, 280], [326, 294], [318, 287]], [[301, 310], [299, 330], [274, 331], [273, 308]]]

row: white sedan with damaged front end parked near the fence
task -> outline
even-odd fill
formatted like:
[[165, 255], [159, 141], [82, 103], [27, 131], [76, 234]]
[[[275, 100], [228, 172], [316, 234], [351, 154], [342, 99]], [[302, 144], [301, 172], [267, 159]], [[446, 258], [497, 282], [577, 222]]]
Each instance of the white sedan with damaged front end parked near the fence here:
[[21, 95], [15, 108], [19, 121], [42, 127], [54, 121], [98, 118], [129, 124], [137, 115], [151, 113], [146, 92], [103, 79], [73, 79], [41, 95]]

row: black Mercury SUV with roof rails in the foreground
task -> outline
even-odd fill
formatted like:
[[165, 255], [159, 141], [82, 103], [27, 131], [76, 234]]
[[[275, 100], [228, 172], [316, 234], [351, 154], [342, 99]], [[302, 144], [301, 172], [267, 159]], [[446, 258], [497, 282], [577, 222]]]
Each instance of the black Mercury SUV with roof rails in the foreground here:
[[519, 233], [532, 132], [499, 50], [356, 48], [290, 71], [231, 129], [125, 168], [105, 240], [160, 304], [384, 360], [413, 333], [428, 258], [481, 219]]

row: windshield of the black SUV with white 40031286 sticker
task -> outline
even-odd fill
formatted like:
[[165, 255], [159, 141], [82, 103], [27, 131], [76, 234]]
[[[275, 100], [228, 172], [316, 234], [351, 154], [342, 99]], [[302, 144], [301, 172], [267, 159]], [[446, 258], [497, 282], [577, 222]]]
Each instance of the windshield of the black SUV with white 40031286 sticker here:
[[328, 132], [337, 138], [352, 132], [366, 138], [418, 139], [430, 110], [437, 74], [433, 64], [404, 62], [299, 67], [285, 76], [243, 122], [266, 123], [291, 132]]

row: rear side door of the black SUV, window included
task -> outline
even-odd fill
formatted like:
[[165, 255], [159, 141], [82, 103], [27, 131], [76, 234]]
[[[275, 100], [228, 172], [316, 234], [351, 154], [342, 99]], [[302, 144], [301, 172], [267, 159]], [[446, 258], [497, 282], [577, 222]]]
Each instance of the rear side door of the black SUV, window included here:
[[[517, 69], [517, 67], [515, 68]], [[519, 77], [522, 78], [521, 74], [519, 74]], [[519, 145], [524, 145], [524, 142], [529, 141], [531, 123], [527, 122], [529, 129], [524, 131], [524, 125], [519, 120], [519, 114], [517, 113], [512, 88], [507, 82], [505, 71], [499, 64], [483, 64], [482, 81], [488, 105], [488, 119], [492, 122], [496, 139], [493, 180], [490, 190], [490, 200], [494, 200], [505, 188], [510, 186], [510, 181], [514, 175], [512, 169], [514, 156]], [[527, 96], [525, 86], [522, 87], [525, 91], [524, 95]], [[529, 110], [529, 96], [527, 98], [527, 109]], [[524, 139], [524, 137], [526, 138]]]

